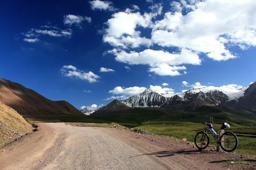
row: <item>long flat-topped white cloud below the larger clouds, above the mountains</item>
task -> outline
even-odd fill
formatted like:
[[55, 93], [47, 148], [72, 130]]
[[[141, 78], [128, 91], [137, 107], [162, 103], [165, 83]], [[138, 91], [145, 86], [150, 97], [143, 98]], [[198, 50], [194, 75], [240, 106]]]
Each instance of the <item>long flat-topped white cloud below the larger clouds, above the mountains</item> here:
[[187, 49], [182, 49], [180, 53], [169, 53], [162, 50], [144, 50], [143, 52], [130, 52], [124, 50], [112, 50], [116, 55], [116, 60], [128, 64], [146, 64], [150, 66], [149, 72], [160, 76], [178, 76], [180, 70], [186, 70], [185, 66], [180, 64], [201, 64], [201, 60], [196, 53]]

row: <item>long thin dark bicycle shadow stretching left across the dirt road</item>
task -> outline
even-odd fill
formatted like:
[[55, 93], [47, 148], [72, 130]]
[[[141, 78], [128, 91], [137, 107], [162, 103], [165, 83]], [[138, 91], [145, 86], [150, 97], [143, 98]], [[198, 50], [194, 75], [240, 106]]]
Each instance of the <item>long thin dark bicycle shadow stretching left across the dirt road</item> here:
[[172, 151], [159, 151], [153, 153], [144, 153], [141, 155], [136, 155], [133, 157], [139, 157], [143, 155], [154, 155], [156, 157], [172, 157], [174, 155], [195, 155], [195, 154], [214, 154], [218, 152], [210, 152], [210, 151], [200, 151], [200, 150], [172, 150]]

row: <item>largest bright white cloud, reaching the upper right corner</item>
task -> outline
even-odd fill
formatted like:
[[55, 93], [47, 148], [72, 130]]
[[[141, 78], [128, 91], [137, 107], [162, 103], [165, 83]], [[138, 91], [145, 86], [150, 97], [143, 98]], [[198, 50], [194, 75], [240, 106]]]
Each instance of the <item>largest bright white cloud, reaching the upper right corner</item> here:
[[154, 43], [189, 48], [206, 53], [214, 60], [235, 58], [225, 46], [227, 42], [256, 45], [256, 1], [182, 2], [180, 8], [191, 11], [186, 15], [180, 11], [165, 13], [164, 19], [157, 21], [153, 29]]

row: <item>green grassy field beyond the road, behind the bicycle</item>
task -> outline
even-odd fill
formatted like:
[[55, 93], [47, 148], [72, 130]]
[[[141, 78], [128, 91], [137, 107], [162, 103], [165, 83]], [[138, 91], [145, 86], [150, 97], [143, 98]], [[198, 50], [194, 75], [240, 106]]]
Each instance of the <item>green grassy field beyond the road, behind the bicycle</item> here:
[[[147, 130], [153, 132], [154, 134], [165, 135], [165, 136], [173, 136], [175, 138], [186, 138], [188, 141], [194, 142], [194, 137], [196, 132], [203, 131], [204, 125], [194, 122], [151, 122], [151, 124], [143, 124], [136, 128]], [[214, 129], [220, 129], [220, 125], [214, 125]], [[241, 126], [232, 126], [231, 129], [227, 129], [226, 131], [237, 132], [239, 134], [256, 134], [256, 127], [249, 128]], [[212, 138], [211, 134], [210, 141], [211, 145], [215, 146], [214, 139]], [[256, 155], [256, 138], [249, 137], [249, 136], [237, 136], [239, 140], [239, 145], [236, 149], [236, 152], [241, 153], [248, 153], [252, 155]]]

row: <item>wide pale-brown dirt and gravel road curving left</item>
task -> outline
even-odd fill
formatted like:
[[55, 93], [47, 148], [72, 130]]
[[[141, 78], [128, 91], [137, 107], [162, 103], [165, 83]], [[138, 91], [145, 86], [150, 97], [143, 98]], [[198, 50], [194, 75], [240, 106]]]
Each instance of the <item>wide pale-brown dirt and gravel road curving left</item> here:
[[0, 169], [250, 169], [255, 161], [239, 153], [198, 152], [174, 138], [60, 123], [40, 124], [40, 131], [0, 150]]

